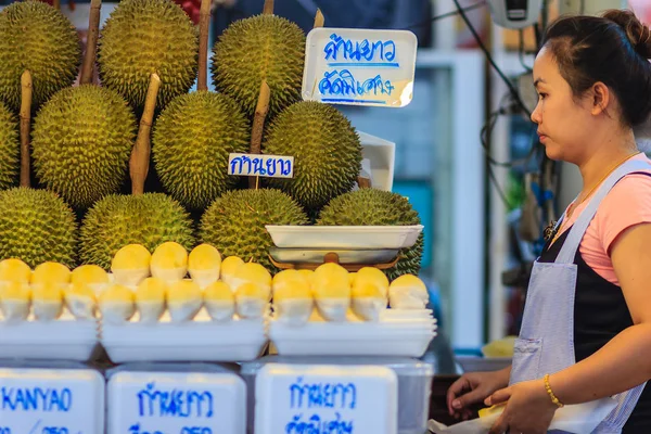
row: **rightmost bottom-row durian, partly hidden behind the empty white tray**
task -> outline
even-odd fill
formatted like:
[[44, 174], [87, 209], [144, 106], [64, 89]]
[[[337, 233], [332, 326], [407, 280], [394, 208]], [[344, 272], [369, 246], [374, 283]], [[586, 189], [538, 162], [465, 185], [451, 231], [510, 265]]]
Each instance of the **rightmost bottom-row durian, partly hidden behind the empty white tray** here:
[[[420, 225], [418, 212], [407, 197], [376, 189], [360, 189], [333, 199], [321, 210], [317, 225], [326, 226], [411, 226]], [[399, 252], [398, 263], [384, 270], [388, 280], [418, 275], [423, 255], [423, 233], [416, 244]]]

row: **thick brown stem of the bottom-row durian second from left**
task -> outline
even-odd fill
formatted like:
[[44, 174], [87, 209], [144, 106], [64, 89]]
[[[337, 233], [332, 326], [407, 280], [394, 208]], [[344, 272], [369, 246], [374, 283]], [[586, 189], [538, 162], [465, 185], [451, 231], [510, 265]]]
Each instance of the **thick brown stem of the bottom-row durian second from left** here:
[[161, 78], [157, 74], [152, 74], [150, 85], [146, 90], [146, 99], [144, 100], [144, 111], [140, 118], [140, 127], [138, 129], [138, 138], [136, 145], [131, 152], [129, 162], [131, 175], [131, 194], [144, 193], [144, 180], [149, 173], [149, 159], [151, 152], [152, 122], [154, 119], [154, 111], [156, 108], [156, 98], [161, 89]]

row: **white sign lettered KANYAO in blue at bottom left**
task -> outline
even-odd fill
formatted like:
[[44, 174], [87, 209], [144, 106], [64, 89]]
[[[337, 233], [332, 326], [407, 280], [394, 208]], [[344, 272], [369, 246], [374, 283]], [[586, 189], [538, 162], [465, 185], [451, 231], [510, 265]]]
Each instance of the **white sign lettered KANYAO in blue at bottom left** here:
[[97, 371], [0, 369], [1, 434], [101, 433], [103, 414]]

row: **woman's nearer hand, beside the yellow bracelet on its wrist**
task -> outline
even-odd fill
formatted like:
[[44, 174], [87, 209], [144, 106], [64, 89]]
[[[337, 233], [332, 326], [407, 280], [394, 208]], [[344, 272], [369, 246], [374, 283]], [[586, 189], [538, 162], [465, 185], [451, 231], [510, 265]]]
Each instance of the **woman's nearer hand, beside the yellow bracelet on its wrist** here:
[[495, 392], [485, 404], [506, 403], [505, 411], [490, 427], [489, 434], [545, 434], [551, 424], [557, 405], [545, 390], [542, 380], [525, 381]]

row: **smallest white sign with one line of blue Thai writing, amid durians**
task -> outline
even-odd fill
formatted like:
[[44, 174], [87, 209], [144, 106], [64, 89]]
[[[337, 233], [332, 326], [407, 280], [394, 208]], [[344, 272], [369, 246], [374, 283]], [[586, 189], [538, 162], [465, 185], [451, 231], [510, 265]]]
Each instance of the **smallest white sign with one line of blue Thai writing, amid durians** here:
[[228, 175], [293, 178], [294, 157], [261, 154], [229, 154]]

